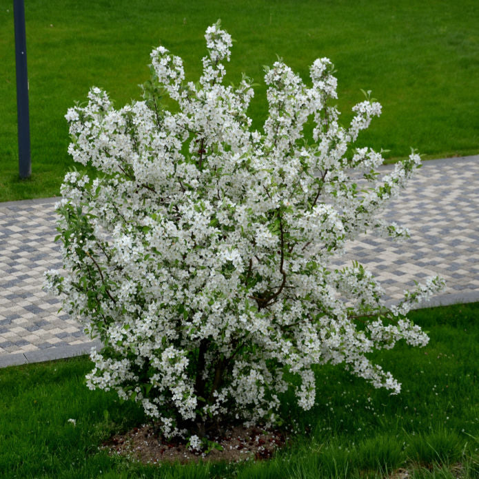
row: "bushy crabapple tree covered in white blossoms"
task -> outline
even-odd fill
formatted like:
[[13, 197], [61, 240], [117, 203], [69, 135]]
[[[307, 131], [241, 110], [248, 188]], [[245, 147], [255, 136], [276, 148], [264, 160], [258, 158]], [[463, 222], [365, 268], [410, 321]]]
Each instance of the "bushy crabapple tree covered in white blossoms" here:
[[57, 204], [64, 271], [45, 274], [104, 345], [92, 350], [88, 386], [141, 403], [164, 436], [192, 447], [228, 422], [274, 423], [289, 387], [311, 408], [314, 365], [343, 364], [397, 393], [367, 354], [400, 339], [425, 345], [406, 314], [443, 285], [429, 278], [387, 308], [363, 266], [332, 267], [360, 233], [407, 236], [378, 213], [418, 155], [380, 178], [381, 154], [351, 146], [380, 105], [366, 99], [341, 126], [332, 63], [314, 61], [309, 88], [276, 61], [265, 75], [264, 130], [252, 131], [251, 81], [223, 83], [230, 35], [216, 23], [205, 38], [198, 83], [159, 47], [143, 101], [115, 110], [92, 88], [88, 104], [68, 110], [69, 152], [99, 174], [66, 174]]

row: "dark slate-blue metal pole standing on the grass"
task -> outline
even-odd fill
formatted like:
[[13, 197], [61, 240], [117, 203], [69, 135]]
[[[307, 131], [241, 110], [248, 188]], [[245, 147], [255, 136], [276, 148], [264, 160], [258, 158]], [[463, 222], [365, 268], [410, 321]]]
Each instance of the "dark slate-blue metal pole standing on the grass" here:
[[17, 118], [19, 128], [19, 173], [28, 178], [30, 161], [30, 120], [28, 113], [27, 41], [25, 36], [25, 6], [23, 0], [13, 0], [15, 25], [15, 63], [17, 66]]

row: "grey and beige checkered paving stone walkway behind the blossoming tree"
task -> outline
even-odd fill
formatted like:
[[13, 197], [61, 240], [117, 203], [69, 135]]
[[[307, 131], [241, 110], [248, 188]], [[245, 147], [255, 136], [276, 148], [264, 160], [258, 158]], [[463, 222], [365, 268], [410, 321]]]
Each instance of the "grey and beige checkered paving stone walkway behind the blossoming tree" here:
[[[56, 201], [0, 203], [0, 367], [83, 354], [94, 344], [41, 289], [45, 269], [61, 267]], [[429, 304], [479, 300], [479, 155], [426, 161], [385, 217], [408, 227], [411, 240], [365, 236], [342, 262], [370, 269], [388, 301], [434, 274], [447, 289]]]

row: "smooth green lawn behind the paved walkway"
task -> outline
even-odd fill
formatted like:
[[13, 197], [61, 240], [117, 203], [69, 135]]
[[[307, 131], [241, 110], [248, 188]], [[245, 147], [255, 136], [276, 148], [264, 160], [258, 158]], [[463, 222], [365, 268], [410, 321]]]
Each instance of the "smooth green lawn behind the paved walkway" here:
[[307, 79], [326, 56], [345, 122], [361, 88], [383, 104], [360, 143], [391, 158], [410, 147], [429, 158], [479, 151], [477, 0], [28, 0], [32, 177], [19, 181], [12, 2], [0, 0], [0, 201], [58, 195], [72, 165], [66, 110], [92, 85], [116, 105], [140, 99], [137, 84], [160, 43], [196, 79], [203, 33], [218, 18], [237, 41], [227, 79], [246, 72], [260, 83], [249, 112], [256, 128], [266, 114], [263, 65], [278, 54]]

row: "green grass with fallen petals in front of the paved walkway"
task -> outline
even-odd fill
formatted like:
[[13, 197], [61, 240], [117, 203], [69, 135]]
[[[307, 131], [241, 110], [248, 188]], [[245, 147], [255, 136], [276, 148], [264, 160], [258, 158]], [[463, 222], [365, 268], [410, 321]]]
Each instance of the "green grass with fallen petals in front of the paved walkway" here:
[[[269, 461], [147, 466], [98, 447], [144, 418], [114, 394], [89, 391], [87, 358], [0, 370], [0, 477], [6, 478], [414, 478], [479, 477], [479, 303], [422, 309], [411, 318], [431, 337], [376, 360], [402, 392], [370, 387], [338, 367], [318, 369], [316, 406], [287, 402], [298, 434]], [[75, 419], [76, 426], [68, 422]]]

